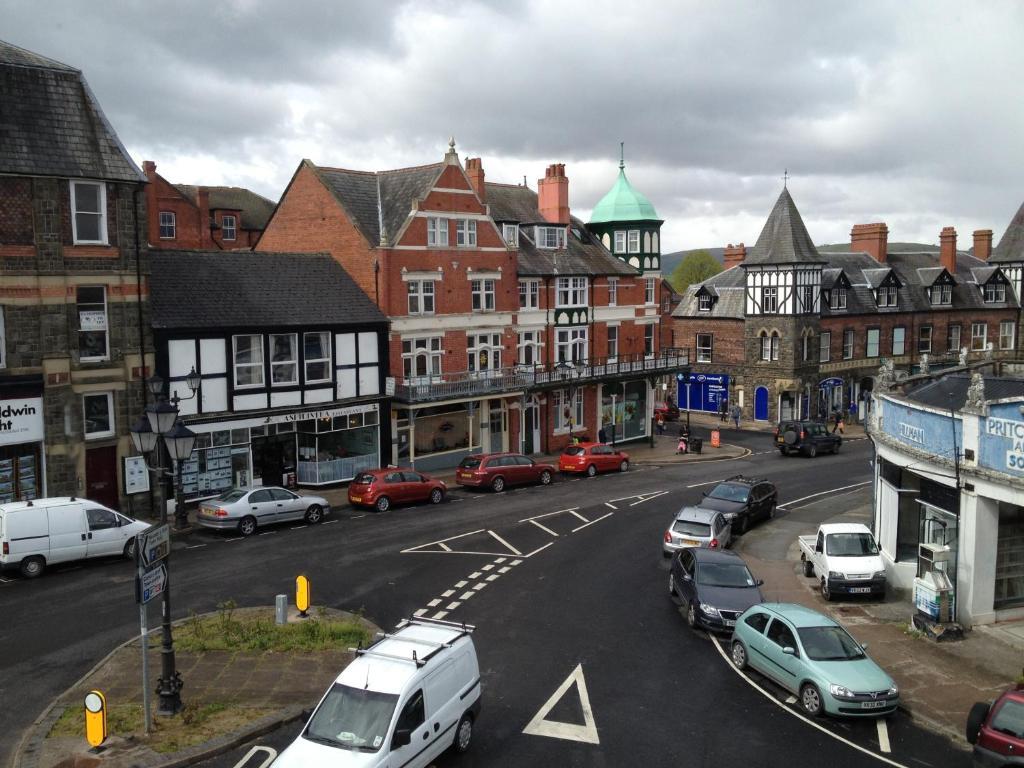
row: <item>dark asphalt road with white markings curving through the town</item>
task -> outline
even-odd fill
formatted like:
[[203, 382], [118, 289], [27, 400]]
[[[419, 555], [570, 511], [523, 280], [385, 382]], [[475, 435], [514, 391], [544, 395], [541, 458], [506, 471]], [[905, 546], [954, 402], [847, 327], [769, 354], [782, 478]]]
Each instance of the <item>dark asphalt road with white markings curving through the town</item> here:
[[[439, 766], [886, 764], [876, 758], [967, 765], [964, 753], [901, 715], [885, 733], [874, 721], [809, 723], [787, 694], [738, 675], [707, 635], [687, 629], [668, 596], [660, 536], [676, 509], [699, 498], [695, 485], [742, 472], [772, 479], [782, 504], [821, 494], [800, 507], [810, 528], [856, 490], [834, 489], [870, 477], [865, 441], [806, 460], [780, 458], [763, 434], [735, 437], [756, 453], [499, 497], [456, 492], [440, 507], [383, 515], [342, 509], [322, 527], [286, 525], [243, 541], [201, 532], [175, 547], [174, 614], [212, 610], [227, 598], [268, 604], [302, 571], [314, 602], [361, 609], [382, 627], [415, 611], [475, 624], [484, 711], [469, 754], [446, 755]], [[765, 535], [755, 528], [748, 538]], [[0, 624], [0, 696], [22, 701], [0, 711], [5, 751], [13, 746], [8, 734], [137, 632], [132, 578], [128, 563], [104, 562], [0, 583], [0, 615], [10, 620]], [[478, 583], [486, 586], [463, 598]], [[585, 682], [593, 722], [584, 718], [578, 682], [552, 701], [547, 719], [596, 733], [598, 743], [523, 733], [573, 674]], [[255, 743], [281, 750], [299, 729]], [[251, 748], [205, 765], [234, 766]]]

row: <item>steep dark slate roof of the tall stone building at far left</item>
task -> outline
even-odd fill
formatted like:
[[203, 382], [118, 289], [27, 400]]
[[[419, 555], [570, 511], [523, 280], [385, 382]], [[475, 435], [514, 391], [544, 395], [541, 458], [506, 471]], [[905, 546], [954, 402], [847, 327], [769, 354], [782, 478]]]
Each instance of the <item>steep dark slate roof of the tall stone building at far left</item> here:
[[145, 181], [80, 71], [3, 41], [0, 173]]

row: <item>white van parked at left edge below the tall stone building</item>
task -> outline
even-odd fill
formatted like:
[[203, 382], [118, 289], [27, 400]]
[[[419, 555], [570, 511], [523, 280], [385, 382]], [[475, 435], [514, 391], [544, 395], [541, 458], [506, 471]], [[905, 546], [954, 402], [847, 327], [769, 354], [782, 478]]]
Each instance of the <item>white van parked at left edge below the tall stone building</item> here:
[[134, 557], [135, 537], [148, 527], [88, 499], [0, 504], [0, 570], [19, 568], [32, 579], [68, 560]]

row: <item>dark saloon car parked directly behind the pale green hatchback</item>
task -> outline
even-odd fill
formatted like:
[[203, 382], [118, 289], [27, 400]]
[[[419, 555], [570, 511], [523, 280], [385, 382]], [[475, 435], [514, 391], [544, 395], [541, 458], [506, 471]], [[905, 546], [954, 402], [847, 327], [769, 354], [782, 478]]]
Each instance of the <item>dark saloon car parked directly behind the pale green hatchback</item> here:
[[692, 629], [732, 632], [736, 616], [764, 602], [762, 584], [735, 552], [688, 548], [672, 558], [669, 596], [686, 608]]

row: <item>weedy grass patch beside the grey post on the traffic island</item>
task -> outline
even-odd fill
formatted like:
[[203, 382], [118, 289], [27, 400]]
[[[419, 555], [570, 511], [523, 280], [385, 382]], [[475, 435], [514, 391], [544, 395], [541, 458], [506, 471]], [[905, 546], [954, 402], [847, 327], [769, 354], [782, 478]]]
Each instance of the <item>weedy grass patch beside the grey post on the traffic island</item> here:
[[220, 603], [214, 615], [193, 615], [174, 630], [174, 647], [208, 650], [337, 650], [366, 645], [371, 633], [357, 618], [332, 620], [324, 611], [294, 624], [274, 624], [272, 613], [236, 615], [234, 603]]

